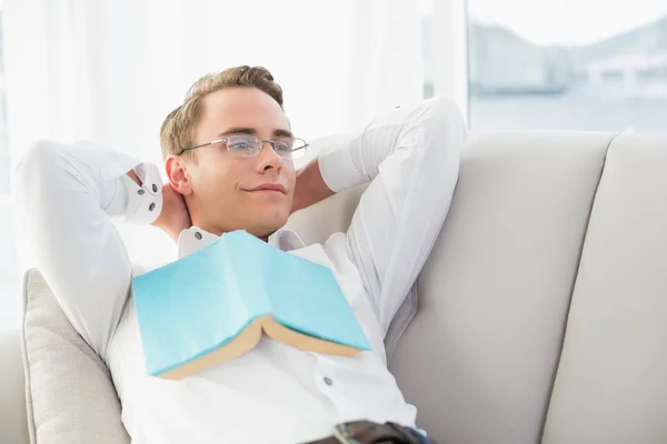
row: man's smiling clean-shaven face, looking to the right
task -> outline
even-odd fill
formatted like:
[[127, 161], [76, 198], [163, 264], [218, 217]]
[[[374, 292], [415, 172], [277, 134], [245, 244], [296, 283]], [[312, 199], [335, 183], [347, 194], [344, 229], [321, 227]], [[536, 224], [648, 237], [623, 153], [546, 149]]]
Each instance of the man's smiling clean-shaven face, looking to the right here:
[[[290, 132], [280, 105], [255, 88], [210, 93], [203, 99], [203, 109], [196, 144], [229, 133], [251, 132], [259, 139], [275, 140]], [[295, 165], [269, 143], [255, 158], [238, 158], [223, 143], [198, 148], [197, 162], [188, 164], [186, 174], [191, 186], [191, 194], [186, 196], [190, 216], [203, 230], [216, 234], [246, 230], [265, 238], [287, 222], [296, 182]]]

